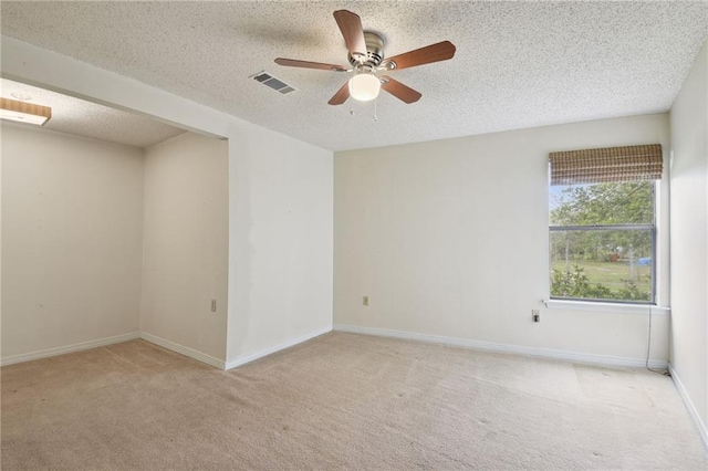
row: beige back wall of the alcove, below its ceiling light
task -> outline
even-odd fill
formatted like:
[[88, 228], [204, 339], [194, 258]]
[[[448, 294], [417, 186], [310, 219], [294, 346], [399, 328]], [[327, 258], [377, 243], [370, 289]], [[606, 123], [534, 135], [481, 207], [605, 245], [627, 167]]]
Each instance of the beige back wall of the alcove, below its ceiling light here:
[[139, 328], [142, 150], [2, 124], [2, 358]]

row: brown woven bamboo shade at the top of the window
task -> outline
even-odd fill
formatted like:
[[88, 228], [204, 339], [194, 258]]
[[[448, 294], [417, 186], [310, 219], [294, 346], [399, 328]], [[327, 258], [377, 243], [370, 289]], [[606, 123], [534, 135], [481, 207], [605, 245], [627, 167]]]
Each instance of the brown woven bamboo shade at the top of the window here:
[[660, 144], [551, 153], [549, 161], [551, 185], [658, 180], [664, 168]]

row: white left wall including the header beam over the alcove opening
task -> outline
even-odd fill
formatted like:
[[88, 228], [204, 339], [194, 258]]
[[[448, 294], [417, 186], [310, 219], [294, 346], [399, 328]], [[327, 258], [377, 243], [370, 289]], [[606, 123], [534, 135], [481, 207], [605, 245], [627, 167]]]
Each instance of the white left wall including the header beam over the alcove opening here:
[[227, 364], [331, 328], [331, 151], [12, 38], [1, 41], [3, 77], [229, 139]]

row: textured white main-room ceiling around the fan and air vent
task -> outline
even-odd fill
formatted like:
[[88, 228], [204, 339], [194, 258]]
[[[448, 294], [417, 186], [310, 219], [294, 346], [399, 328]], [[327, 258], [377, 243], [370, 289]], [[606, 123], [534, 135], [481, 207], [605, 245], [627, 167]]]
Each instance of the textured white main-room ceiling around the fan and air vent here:
[[[704, 41], [708, 2], [11, 2], [2, 33], [341, 150], [669, 109]], [[406, 105], [327, 100], [346, 64], [332, 12], [360, 14], [392, 56], [442, 40], [447, 62], [394, 72]], [[288, 95], [249, 76], [266, 70]], [[353, 113], [352, 113], [353, 112]]]

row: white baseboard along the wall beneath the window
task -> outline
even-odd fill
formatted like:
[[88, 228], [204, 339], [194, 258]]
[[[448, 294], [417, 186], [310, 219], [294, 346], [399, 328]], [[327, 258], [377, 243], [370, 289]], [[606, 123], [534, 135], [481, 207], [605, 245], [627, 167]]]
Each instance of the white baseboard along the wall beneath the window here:
[[[356, 325], [335, 324], [335, 331], [351, 332], [354, 334], [377, 335], [381, 337], [404, 338], [409, 341], [434, 342], [437, 344], [456, 345], [460, 347], [473, 348], [487, 352], [513, 353], [519, 355], [537, 356], [543, 358], [555, 358], [568, 362], [585, 363], [601, 366], [622, 366], [633, 368], [646, 367], [646, 359], [625, 358], [606, 355], [594, 355], [576, 352], [555, 350], [551, 348], [523, 347], [518, 345], [494, 344], [491, 342], [470, 341], [458, 337], [444, 337], [440, 335], [417, 334], [414, 332], [391, 331], [386, 328], [360, 327]], [[649, 367], [666, 369], [668, 362], [649, 360]]]

